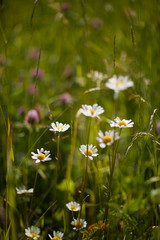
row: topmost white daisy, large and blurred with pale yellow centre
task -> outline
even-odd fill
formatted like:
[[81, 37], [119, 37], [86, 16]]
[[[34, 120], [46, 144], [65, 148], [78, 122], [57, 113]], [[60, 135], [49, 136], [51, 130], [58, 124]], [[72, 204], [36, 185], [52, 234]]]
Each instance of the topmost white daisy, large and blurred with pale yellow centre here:
[[106, 87], [114, 90], [115, 92], [119, 92], [125, 90], [129, 87], [133, 87], [133, 82], [129, 79], [128, 76], [119, 76], [114, 75], [112, 78], [108, 80], [106, 83]]

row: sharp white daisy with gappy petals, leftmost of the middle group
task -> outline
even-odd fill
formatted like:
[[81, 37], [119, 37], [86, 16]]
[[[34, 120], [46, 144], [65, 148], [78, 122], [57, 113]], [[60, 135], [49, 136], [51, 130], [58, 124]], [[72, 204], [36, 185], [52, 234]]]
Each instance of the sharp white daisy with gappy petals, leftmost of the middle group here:
[[34, 159], [36, 163], [52, 160], [52, 158], [50, 158], [50, 151], [46, 151], [44, 148], [37, 149], [37, 153], [31, 152], [31, 154], [33, 155], [32, 159]]

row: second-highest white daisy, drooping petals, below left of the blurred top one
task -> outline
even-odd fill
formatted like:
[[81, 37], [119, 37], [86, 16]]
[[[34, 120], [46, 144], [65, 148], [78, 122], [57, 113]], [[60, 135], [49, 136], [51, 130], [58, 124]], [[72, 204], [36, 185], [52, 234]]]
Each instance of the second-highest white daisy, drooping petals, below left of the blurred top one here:
[[98, 104], [91, 105], [82, 105], [82, 108], [80, 108], [81, 113], [83, 113], [87, 117], [97, 117], [100, 118], [99, 115], [104, 113], [104, 109], [101, 106], [98, 106]]

